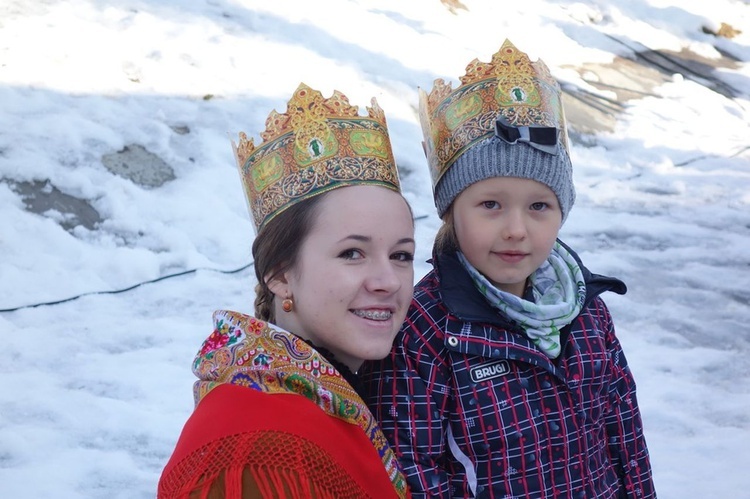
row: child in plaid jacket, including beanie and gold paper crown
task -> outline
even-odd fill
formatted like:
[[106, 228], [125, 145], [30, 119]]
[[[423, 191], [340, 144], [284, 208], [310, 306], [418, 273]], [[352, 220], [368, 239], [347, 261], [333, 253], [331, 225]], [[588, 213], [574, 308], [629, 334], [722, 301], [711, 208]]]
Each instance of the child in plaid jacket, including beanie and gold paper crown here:
[[363, 373], [414, 497], [652, 498], [633, 376], [589, 272], [557, 240], [575, 200], [560, 88], [505, 41], [420, 117], [434, 269]]

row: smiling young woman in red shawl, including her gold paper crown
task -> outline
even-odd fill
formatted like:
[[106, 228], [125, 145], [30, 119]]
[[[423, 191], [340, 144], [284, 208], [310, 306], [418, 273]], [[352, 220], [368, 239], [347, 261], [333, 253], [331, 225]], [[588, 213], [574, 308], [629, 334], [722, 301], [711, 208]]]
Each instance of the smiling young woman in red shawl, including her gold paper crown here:
[[257, 235], [255, 317], [214, 313], [196, 408], [158, 497], [406, 497], [357, 395], [413, 290], [414, 224], [385, 116], [300, 85], [264, 142], [235, 147]]

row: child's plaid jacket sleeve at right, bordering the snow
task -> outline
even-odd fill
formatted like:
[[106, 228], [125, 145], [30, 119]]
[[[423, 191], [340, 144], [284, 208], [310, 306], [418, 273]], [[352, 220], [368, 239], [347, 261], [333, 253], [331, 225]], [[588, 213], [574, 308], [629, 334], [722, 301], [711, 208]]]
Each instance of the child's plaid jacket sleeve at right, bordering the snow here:
[[609, 451], [620, 474], [620, 496], [649, 499], [656, 497], [648, 447], [643, 434], [641, 412], [636, 398], [636, 387], [620, 341], [615, 335], [612, 316], [601, 299], [605, 340], [611, 359], [609, 403], [605, 416]]

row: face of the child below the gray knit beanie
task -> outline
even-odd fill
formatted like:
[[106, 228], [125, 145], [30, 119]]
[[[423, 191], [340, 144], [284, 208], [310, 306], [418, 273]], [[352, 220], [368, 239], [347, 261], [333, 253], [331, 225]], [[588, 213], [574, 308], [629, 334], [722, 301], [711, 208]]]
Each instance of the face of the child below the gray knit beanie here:
[[552, 251], [562, 212], [546, 185], [492, 177], [458, 195], [453, 223], [469, 262], [499, 289], [521, 296], [526, 278]]

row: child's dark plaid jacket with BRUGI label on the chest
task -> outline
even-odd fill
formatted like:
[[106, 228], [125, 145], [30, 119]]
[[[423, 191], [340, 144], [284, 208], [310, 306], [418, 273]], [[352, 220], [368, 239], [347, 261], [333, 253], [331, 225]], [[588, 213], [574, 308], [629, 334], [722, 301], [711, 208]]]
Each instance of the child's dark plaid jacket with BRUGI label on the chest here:
[[361, 371], [414, 497], [656, 497], [635, 383], [599, 297], [625, 285], [581, 265], [586, 304], [553, 360], [455, 254], [432, 263], [391, 354]]

